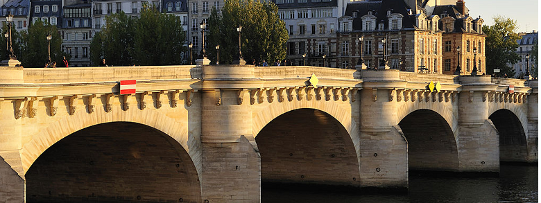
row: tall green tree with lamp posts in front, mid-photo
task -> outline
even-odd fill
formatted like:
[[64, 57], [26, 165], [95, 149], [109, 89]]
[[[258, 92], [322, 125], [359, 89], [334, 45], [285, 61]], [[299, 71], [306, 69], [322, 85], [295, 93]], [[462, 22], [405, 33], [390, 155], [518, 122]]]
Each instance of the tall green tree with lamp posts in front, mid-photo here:
[[216, 62], [216, 46], [220, 44], [220, 63], [229, 64], [239, 58], [239, 33], [242, 26], [241, 51], [244, 60], [257, 62], [283, 60], [289, 39], [286, 26], [277, 15], [278, 8], [270, 1], [227, 0], [221, 15], [213, 9], [209, 17], [207, 53]]

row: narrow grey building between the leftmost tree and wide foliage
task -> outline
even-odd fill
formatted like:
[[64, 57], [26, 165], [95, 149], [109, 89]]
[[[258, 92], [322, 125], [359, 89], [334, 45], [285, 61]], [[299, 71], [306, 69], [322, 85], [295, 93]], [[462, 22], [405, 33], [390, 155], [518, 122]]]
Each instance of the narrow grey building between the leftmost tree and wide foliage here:
[[85, 1], [71, 2], [64, 6], [62, 17], [62, 48], [71, 55], [70, 67], [91, 65], [89, 52], [92, 42], [91, 4]]

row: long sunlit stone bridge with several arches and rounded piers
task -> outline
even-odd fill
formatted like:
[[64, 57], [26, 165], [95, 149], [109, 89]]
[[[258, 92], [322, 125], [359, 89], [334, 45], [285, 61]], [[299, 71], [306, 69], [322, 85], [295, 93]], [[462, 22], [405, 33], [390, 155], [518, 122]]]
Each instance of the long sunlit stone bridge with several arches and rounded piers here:
[[[538, 161], [534, 80], [243, 65], [0, 71], [0, 202], [259, 202], [265, 184], [407, 188], [410, 170]], [[119, 95], [119, 80], [137, 80], [136, 94]]]

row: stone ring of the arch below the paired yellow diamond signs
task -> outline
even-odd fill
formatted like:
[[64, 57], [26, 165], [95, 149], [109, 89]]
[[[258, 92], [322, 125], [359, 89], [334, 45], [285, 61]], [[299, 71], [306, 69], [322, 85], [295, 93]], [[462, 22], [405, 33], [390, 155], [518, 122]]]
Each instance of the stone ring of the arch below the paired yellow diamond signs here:
[[[446, 105], [447, 104], [447, 105]], [[452, 109], [449, 109], [451, 108], [453, 105], [453, 103], [443, 103], [443, 102], [437, 102], [437, 103], [434, 103], [434, 102], [418, 102], [417, 100], [415, 100], [415, 102], [406, 102], [404, 103], [403, 105], [400, 105], [400, 107], [398, 107], [398, 111], [397, 111], [397, 121], [400, 123], [400, 121], [402, 121], [402, 119], [404, 119], [406, 116], [408, 116], [409, 114], [411, 114], [412, 112], [415, 112], [417, 110], [420, 110], [420, 109], [428, 109], [428, 110], [431, 110], [433, 112], [436, 112], [437, 114], [439, 114], [440, 116], [442, 116], [445, 121], [447, 121], [447, 124], [449, 124], [449, 127], [451, 127], [452, 131], [453, 131], [453, 135], [454, 135], [454, 138], [455, 138], [455, 141], [457, 140], [458, 138], [458, 118], [457, 116], [454, 114], [454, 112], [452, 111]], [[397, 124], [398, 125], [398, 124]]]

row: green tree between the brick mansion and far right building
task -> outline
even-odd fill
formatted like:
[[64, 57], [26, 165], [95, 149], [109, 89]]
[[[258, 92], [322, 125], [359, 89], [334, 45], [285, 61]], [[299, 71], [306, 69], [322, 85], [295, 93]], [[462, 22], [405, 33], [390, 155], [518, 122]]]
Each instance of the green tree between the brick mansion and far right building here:
[[500, 69], [499, 75], [515, 76], [515, 70], [510, 64], [515, 64], [520, 58], [517, 50], [517, 40], [520, 38], [516, 33], [517, 21], [505, 19], [501, 16], [493, 17], [494, 25], [483, 26], [486, 33], [486, 71], [494, 73], [494, 69]]

